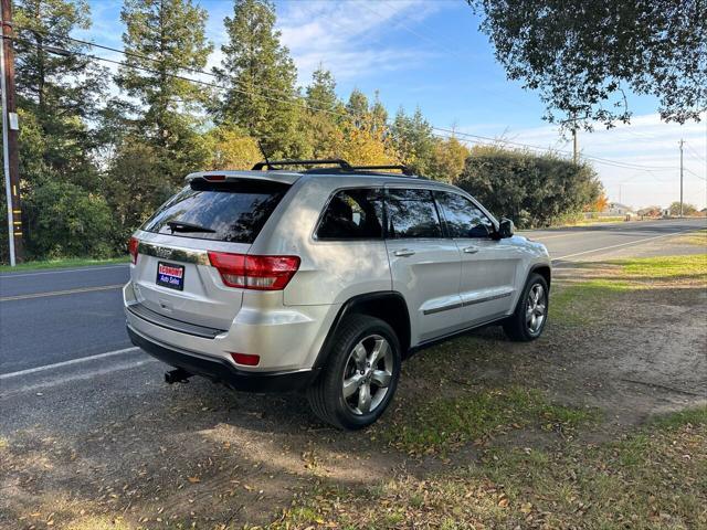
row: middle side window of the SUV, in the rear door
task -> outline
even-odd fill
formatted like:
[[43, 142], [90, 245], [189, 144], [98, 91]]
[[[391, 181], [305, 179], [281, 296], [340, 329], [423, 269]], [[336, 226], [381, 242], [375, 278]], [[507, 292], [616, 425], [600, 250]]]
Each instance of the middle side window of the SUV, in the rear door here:
[[389, 189], [386, 199], [388, 237], [442, 237], [432, 191]]

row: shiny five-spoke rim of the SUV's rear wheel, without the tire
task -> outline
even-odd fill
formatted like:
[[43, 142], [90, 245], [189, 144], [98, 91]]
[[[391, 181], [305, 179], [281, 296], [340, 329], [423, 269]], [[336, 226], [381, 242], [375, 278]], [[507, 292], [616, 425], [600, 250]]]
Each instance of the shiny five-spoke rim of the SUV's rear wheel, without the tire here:
[[373, 412], [388, 394], [393, 377], [393, 352], [380, 335], [359, 341], [346, 362], [344, 401], [358, 415]]

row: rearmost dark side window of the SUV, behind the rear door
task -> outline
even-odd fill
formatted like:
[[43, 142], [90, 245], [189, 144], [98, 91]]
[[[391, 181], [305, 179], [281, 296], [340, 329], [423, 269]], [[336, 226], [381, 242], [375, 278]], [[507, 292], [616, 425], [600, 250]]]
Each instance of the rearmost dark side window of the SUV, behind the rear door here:
[[337, 192], [321, 216], [318, 240], [377, 240], [383, 236], [383, 198], [379, 189]]

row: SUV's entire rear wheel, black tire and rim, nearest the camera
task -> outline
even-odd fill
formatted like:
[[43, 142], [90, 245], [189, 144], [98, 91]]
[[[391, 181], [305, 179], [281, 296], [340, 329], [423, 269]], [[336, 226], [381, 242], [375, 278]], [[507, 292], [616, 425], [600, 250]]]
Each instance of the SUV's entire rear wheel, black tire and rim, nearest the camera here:
[[387, 322], [367, 315], [346, 317], [324, 373], [307, 390], [312, 410], [337, 428], [367, 427], [390, 404], [400, 379], [400, 341]]

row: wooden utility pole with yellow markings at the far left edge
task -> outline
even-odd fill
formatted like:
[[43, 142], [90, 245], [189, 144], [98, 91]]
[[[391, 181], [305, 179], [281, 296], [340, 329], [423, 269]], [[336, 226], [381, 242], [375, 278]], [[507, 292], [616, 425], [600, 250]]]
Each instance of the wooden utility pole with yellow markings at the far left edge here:
[[14, 100], [14, 53], [12, 50], [11, 0], [2, 1], [0, 34], [0, 88], [2, 89], [2, 158], [8, 200], [8, 245], [10, 265], [21, 262], [22, 210], [20, 209], [20, 160], [18, 158], [18, 114]]

